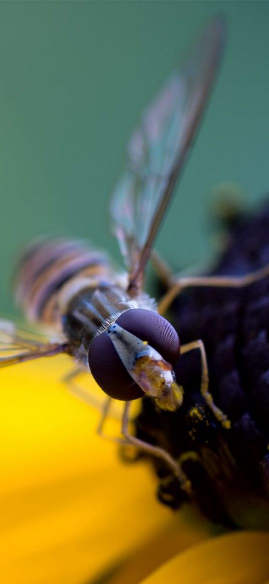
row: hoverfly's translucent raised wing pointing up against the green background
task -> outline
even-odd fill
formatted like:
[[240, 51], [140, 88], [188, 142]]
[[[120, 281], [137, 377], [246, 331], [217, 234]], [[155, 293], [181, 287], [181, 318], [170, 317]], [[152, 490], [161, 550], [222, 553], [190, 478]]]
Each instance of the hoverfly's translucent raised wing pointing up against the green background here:
[[225, 24], [215, 19], [145, 110], [128, 144], [111, 217], [134, 294], [207, 102], [224, 37]]

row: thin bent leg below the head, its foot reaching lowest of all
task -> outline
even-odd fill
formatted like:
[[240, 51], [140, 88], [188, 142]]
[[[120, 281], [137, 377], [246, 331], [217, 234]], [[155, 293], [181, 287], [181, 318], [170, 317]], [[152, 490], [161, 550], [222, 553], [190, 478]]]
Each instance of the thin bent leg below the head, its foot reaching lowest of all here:
[[126, 402], [123, 411], [121, 433], [123, 434], [125, 439], [130, 444], [134, 444], [134, 446], [136, 446], [139, 450], [144, 450], [148, 454], [152, 454], [153, 456], [158, 456], [159, 458], [162, 458], [163, 461], [165, 461], [167, 466], [170, 468], [170, 470], [172, 470], [173, 474], [176, 475], [176, 477], [179, 479], [181, 488], [184, 489], [184, 491], [190, 493], [191, 483], [188, 480], [187, 475], [182, 470], [180, 463], [178, 463], [172, 456], [170, 456], [170, 454], [163, 448], [160, 448], [159, 446], [153, 446], [153, 444], [144, 442], [144, 440], [140, 440], [136, 436], [132, 436], [132, 434], [130, 434], [130, 432], [128, 431], [130, 405], [131, 405], [130, 401]]

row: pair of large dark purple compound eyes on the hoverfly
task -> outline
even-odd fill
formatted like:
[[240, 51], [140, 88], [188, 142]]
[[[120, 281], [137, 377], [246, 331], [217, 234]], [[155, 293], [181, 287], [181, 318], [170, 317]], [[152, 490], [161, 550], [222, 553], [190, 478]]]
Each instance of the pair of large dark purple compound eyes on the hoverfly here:
[[[170, 322], [157, 312], [132, 308], [121, 314], [116, 322], [139, 339], [146, 340], [172, 366], [176, 364], [180, 354], [179, 336]], [[127, 373], [105, 332], [91, 343], [88, 361], [96, 383], [110, 397], [127, 401], [144, 395]]]

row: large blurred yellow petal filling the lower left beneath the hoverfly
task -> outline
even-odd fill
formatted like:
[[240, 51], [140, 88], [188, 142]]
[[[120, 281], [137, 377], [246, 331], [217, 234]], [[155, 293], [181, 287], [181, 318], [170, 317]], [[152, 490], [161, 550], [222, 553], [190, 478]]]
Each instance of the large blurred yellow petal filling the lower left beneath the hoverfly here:
[[[164, 550], [151, 566], [145, 562], [144, 578], [175, 551], [208, 537], [207, 526], [185, 527], [157, 502], [145, 463], [120, 463], [117, 447], [96, 436], [99, 412], [59, 381], [70, 367], [67, 358], [57, 357], [1, 371], [5, 584], [93, 581], [135, 552], [154, 548], [156, 537]], [[116, 433], [118, 425], [111, 422], [109, 430]]]

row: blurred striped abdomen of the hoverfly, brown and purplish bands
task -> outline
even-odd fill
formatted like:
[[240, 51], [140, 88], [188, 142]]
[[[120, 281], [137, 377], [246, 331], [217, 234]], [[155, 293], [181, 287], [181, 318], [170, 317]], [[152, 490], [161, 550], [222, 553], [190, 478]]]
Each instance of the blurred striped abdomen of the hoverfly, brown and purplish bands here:
[[62, 315], [81, 290], [111, 286], [109, 259], [81, 241], [34, 242], [20, 259], [16, 301], [32, 322], [62, 329]]

